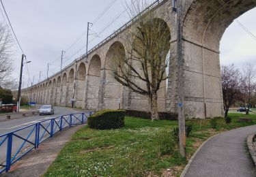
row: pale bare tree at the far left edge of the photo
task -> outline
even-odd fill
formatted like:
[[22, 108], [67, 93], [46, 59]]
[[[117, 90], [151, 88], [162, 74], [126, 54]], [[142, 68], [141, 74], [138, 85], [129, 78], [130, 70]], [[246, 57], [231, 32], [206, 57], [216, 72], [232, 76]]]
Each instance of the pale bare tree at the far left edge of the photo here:
[[12, 83], [11, 72], [13, 71], [11, 51], [12, 36], [8, 27], [0, 24], [0, 86], [9, 87]]

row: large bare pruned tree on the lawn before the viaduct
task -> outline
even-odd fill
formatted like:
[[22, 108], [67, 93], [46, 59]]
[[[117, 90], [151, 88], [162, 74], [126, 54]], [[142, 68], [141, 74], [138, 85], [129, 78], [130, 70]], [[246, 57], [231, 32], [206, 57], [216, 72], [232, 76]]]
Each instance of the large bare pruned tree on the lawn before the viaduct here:
[[[139, 13], [142, 6], [133, 4], [131, 16]], [[147, 96], [152, 120], [158, 120], [158, 91], [161, 83], [167, 80], [165, 71], [170, 50], [170, 30], [164, 20], [148, 12], [137, 20], [137, 28], [130, 33], [132, 41], [129, 43], [132, 47], [127, 48], [127, 56], [116, 56], [115, 65], [112, 66], [113, 75], [117, 82], [134, 93]]]

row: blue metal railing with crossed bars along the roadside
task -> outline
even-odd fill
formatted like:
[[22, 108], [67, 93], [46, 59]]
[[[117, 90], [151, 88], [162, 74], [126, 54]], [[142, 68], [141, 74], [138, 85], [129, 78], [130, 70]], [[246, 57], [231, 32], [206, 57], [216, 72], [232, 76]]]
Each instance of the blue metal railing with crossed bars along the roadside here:
[[32, 149], [38, 148], [44, 140], [55, 133], [74, 125], [87, 123], [87, 118], [94, 112], [83, 112], [49, 118], [33, 123], [16, 131], [0, 135], [0, 174], [8, 172], [11, 165]]

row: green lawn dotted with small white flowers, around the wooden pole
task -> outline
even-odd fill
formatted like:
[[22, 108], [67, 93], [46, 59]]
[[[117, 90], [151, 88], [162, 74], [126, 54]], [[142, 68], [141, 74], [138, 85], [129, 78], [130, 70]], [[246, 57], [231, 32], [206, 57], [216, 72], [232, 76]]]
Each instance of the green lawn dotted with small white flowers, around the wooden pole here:
[[[122, 129], [99, 131], [85, 126], [73, 135], [44, 176], [160, 176], [167, 168], [173, 176], [180, 176], [195, 150], [212, 135], [256, 124], [255, 115], [229, 116], [231, 124], [219, 118], [216, 129], [211, 128], [210, 120], [189, 120], [193, 131], [186, 140], [186, 159], [180, 157], [171, 136], [177, 121], [126, 117]], [[238, 123], [241, 116], [253, 118], [253, 123]]]

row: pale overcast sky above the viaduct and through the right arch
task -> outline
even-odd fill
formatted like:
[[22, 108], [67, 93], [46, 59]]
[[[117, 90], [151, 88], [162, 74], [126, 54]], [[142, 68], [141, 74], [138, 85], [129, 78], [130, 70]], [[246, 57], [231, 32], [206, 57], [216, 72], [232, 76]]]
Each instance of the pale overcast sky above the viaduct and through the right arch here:
[[[27, 56], [30, 77], [35, 76], [35, 82], [46, 78], [47, 63], [51, 63], [49, 75], [59, 71], [61, 50], [65, 50], [63, 67], [85, 53], [87, 22], [94, 22], [90, 33], [100, 33], [104, 27], [113, 22], [99, 37], [90, 35], [89, 48], [98, 44], [129, 20], [126, 0], [2, 0], [5, 10], [18, 40]], [[152, 1], [152, 0], [149, 0]], [[130, 2], [130, 1], [128, 1]], [[99, 14], [113, 3], [110, 9], [97, 20]], [[1, 8], [3, 13], [3, 9]], [[256, 9], [246, 12], [238, 20], [256, 35]], [[1, 22], [4, 22], [0, 14]], [[6, 19], [5, 19], [6, 20]], [[76, 42], [78, 39], [78, 42]], [[71, 48], [70, 46], [76, 42]], [[18, 78], [21, 52], [16, 49], [13, 55], [15, 63], [14, 77]], [[221, 64], [235, 63], [242, 65], [244, 61], [256, 63], [256, 41], [250, 37], [237, 22], [227, 29], [221, 41]], [[24, 68], [24, 86], [27, 86], [27, 68]]]

